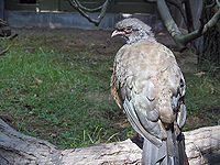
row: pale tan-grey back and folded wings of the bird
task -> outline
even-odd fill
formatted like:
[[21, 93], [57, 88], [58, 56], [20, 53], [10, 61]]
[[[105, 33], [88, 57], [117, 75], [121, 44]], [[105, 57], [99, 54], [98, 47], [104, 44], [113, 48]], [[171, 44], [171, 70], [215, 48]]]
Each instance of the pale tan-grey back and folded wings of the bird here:
[[[183, 125], [186, 114], [178, 113], [185, 92], [178, 94], [179, 84], [185, 81], [173, 53], [163, 52], [167, 50], [155, 43], [124, 45], [114, 58], [111, 79], [111, 92], [133, 129], [156, 146], [166, 139], [164, 121], [173, 122], [178, 116]], [[184, 103], [180, 109], [185, 111]]]

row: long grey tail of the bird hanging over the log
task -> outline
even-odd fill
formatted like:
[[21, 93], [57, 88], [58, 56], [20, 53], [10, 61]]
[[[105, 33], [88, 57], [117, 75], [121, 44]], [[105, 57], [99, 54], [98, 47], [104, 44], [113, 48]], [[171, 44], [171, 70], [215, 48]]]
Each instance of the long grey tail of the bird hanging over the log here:
[[144, 139], [142, 165], [188, 165], [184, 134], [176, 136], [173, 130], [168, 130], [167, 140], [161, 147]]

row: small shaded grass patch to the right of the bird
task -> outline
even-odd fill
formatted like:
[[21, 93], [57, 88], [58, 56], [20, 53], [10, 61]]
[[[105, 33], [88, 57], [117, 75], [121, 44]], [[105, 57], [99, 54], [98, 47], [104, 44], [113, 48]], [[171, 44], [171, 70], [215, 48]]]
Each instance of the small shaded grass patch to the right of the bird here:
[[220, 124], [220, 86], [211, 73], [202, 77], [187, 75], [186, 105], [188, 122], [185, 130]]

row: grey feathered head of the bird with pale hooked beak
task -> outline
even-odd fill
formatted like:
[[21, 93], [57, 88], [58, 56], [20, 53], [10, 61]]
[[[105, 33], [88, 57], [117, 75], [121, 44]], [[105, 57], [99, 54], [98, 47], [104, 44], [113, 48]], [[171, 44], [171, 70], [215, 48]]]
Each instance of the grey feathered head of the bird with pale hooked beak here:
[[124, 19], [118, 22], [111, 37], [117, 35], [125, 38], [128, 44], [143, 40], [155, 40], [151, 26], [134, 18]]

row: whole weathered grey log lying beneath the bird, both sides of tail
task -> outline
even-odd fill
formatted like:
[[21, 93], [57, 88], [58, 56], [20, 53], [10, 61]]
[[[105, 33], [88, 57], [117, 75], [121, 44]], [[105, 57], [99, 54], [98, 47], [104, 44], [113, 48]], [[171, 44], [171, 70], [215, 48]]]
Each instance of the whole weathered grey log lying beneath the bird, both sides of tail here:
[[[185, 139], [190, 165], [220, 162], [220, 127], [185, 132]], [[131, 140], [59, 150], [46, 141], [13, 130], [0, 119], [1, 165], [139, 165], [141, 152]]]

